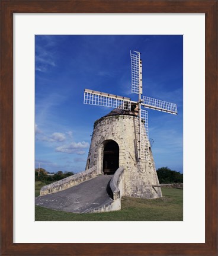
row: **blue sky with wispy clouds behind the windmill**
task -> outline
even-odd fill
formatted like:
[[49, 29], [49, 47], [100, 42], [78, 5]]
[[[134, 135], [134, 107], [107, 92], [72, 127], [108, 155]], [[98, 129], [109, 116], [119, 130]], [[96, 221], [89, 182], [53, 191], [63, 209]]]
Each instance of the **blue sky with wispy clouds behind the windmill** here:
[[156, 168], [182, 172], [182, 36], [35, 37], [35, 166], [84, 171], [94, 121], [112, 108], [84, 105], [84, 89], [137, 101], [130, 50], [142, 53], [143, 95], [176, 103], [178, 115], [148, 110]]

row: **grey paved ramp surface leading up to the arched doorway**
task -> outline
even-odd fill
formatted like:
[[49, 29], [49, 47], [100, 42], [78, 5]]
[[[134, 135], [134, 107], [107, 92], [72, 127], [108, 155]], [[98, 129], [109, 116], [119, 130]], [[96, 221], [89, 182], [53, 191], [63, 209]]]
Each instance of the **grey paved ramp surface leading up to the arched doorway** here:
[[113, 202], [107, 185], [113, 175], [100, 175], [79, 185], [53, 194], [36, 197], [37, 206], [65, 212], [87, 213]]

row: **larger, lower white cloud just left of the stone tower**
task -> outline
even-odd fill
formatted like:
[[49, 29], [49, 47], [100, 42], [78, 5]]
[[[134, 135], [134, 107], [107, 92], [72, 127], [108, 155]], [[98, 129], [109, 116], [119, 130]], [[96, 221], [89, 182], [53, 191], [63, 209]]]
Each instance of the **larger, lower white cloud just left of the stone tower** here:
[[78, 155], [84, 155], [85, 151], [81, 149], [85, 149], [89, 147], [88, 142], [72, 142], [68, 145], [62, 145], [55, 149], [56, 152], [63, 152], [63, 153], [77, 153]]

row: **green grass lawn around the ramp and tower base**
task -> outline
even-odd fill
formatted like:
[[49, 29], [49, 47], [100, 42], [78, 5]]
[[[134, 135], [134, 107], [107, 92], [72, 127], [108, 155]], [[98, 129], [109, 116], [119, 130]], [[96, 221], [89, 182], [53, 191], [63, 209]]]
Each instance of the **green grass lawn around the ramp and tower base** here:
[[[36, 183], [36, 196], [39, 196], [40, 187], [44, 184]], [[121, 210], [105, 213], [68, 213], [50, 210], [35, 206], [35, 220], [64, 220], [64, 221], [116, 221], [116, 220], [140, 220], [140, 221], [166, 221], [182, 220], [183, 190], [177, 188], [162, 188], [164, 197], [161, 199], [137, 199], [122, 197]]]

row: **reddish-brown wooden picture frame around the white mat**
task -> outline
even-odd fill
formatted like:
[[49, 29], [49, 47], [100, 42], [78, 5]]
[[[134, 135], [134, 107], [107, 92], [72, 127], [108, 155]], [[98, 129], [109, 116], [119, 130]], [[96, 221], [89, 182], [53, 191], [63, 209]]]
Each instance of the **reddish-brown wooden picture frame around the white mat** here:
[[[206, 242], [17, 244], [13, 242], [13, 14], [206, 14]], [[217, 0], [1, 1], [1, 255], [217, 255]]]

